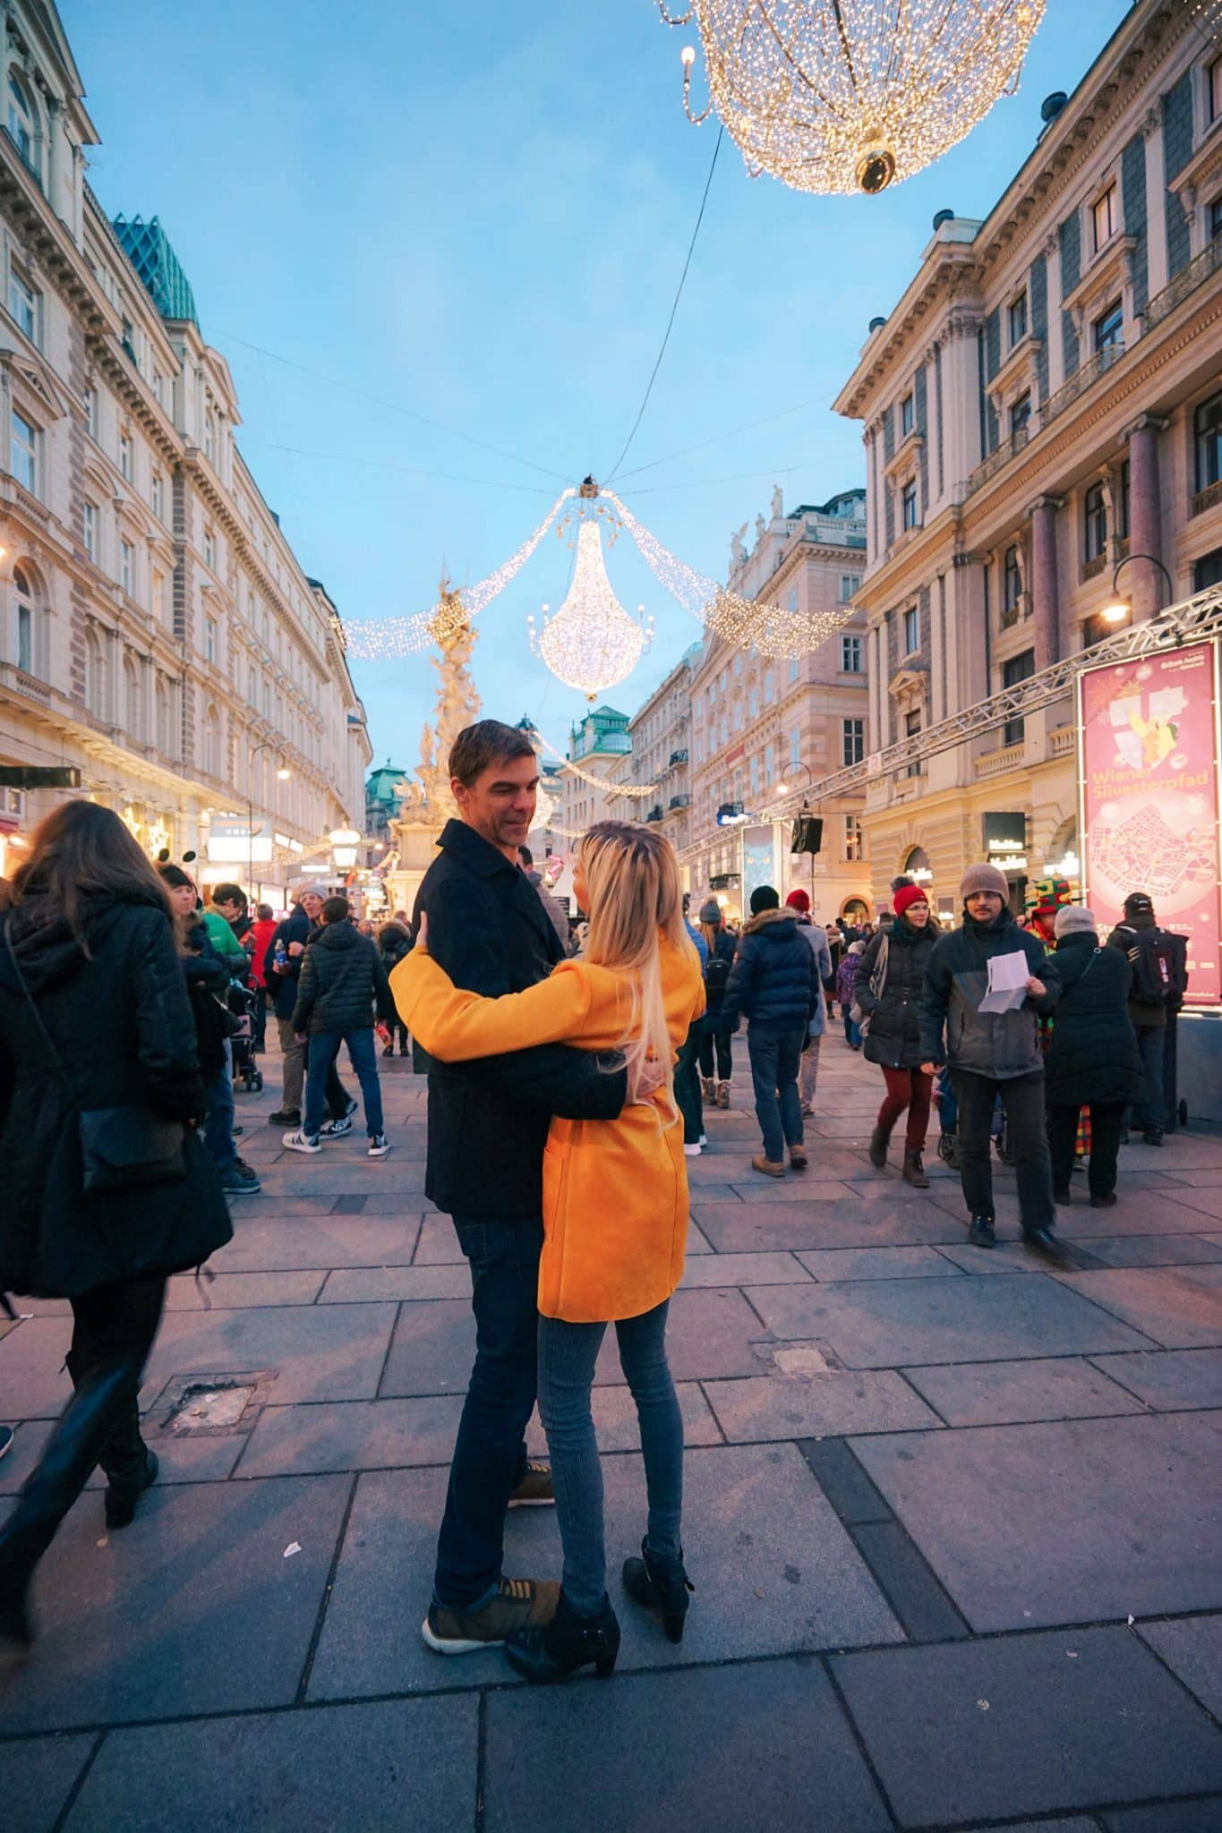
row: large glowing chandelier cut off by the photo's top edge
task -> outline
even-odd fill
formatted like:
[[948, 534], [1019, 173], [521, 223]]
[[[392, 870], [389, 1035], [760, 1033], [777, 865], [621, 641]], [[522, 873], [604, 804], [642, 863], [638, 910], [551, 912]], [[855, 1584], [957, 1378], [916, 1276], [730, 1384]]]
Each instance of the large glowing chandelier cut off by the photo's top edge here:
[[958, 145], [1013, 95], [1044, 0], [693, 0], [709, 104], [753, 178], [795, 191], [885, 191]]

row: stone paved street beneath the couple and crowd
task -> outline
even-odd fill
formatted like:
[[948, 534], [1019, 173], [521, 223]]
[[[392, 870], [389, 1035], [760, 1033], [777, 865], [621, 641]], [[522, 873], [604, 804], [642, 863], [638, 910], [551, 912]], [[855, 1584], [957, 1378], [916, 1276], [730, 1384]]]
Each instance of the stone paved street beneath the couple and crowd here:
[[[619, 1587], [643, 1477], [608, 1344], [619, 1668], [529, 1690], [420, 1641], [473, 1353], [423, 1080], [385, 1076], [385, 1162], [359, 1131], [306, 1160], [264, 1124], [267, 1061], [238, 1098], [264, 1193], [203, 1292], [174, 1281], [148, 1367], [161, 1483], [108, 1540], [95, 1479], [40, 1569], [5, 1829], [1218, 1833], [1222, 1136], [1127, 1147], [1114, 1210], [1075, 1179], [1050, 1272], [1008, 1173], [984, 1254], [934, 1155], [929, 1193], [870, 1168], [878, 1072], [835, 1034], [804, 1179], [755, 1175], [753, 1116], [711, 1114], [671, 1325], [689, 1631]], [[20, 1309], [5, 1498], [68, 1393], [66, 1307]], [[236, 1424], [167, 1424], [216, 1378], [249, 1389]], [[507, 1571], [559, 1571], [550, 1510], [509, 1518]]]

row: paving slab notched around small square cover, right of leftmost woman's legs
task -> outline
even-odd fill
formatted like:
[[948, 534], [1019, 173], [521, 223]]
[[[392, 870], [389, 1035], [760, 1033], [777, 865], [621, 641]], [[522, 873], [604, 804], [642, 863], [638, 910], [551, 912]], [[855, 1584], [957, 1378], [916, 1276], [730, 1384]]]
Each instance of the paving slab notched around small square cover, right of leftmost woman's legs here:
[[[145, 1369], [145, 1404], [172, 1375], [275, 1371], [269, 1399], [365, 1400], [377, 1393], [396, 1305], [180, 1311]], [[2, 1347], [2, 1345], [0, 1345]]]

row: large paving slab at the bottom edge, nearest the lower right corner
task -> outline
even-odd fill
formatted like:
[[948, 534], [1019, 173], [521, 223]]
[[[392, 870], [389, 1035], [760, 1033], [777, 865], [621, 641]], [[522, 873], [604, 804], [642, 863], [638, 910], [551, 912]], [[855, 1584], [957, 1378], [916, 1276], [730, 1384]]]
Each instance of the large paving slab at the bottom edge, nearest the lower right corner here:
[[1222, 1787], [1222, 1730], [1127, 1630], [832, 1657], [900, 1826]]

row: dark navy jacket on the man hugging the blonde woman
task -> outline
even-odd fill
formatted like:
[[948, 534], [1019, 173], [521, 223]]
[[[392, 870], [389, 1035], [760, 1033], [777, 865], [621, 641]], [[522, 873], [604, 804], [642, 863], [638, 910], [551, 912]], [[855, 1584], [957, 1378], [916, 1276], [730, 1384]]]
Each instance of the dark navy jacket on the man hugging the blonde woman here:
[[[438, 847], [416, 893], [412, 935], [427, 911], [429, 953], [467, 992], [498, 997], [546, 981], [564, 948], [526, 873], [465, 821], [447, 821]], [[551, 1114], [614, 1120], [628, 1085], [623, 1067], [562, 1043], [427, 1065], [425, 1193], [438, 1210], [476, 1221], [540, 1215]]]

